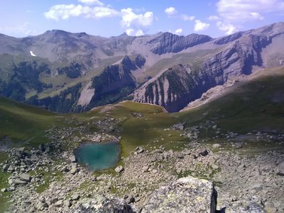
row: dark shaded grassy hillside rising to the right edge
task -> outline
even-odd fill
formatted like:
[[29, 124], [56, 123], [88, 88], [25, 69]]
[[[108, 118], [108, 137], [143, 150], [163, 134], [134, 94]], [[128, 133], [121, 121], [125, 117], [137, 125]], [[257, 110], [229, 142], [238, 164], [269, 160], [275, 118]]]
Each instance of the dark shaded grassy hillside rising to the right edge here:
[[249, 82], [195, 109], [176, 114], [189, 123], [214, 120], [225, 131], [284, 133], [284, 67], [262, 71]]

